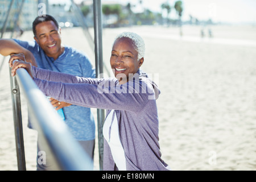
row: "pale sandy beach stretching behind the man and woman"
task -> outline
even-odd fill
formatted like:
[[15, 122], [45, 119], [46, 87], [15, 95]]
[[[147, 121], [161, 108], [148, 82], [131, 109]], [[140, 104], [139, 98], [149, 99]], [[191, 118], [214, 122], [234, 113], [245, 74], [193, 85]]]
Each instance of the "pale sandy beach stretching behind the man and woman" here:
[[[208, 28], [213, 38], [208, 37]], [[159, 142], [173, 170], [256, 169], [256, 26], [142, 26], [104, 29], [103, 57], [109, 68], [114, 37], [134, 31], [146, 43], [142, 70], [159, 85]], [[90, 30], [93, 35], [93, 30]], [[94, 53], [81, 28], [62, 30], [63, 44]], [[9, 38], [6, 34], [5, 38]], [[26, 31], [21, 40], [33, 40]], [[0, 63], [2, 62], [0, 56]], [[8, 57], [0, 72], [0, 170], [17, 170]], [[22, 94], [21, 94], [22, 96]], [[96, 109], [93, 109], [97, 121]], [[27, 128], [22, 96], [27, 170], [36, 170], [36, 131]], [[96, 124], [97, 126], [97, 124]], [[96, 130], [97, 131], [97, 130]], [[97, 134], [97, 132], [96, 132]], [[97, 138], [97, 136], [96, 136]], [[94, 169], [99, 169], [98, 146]]]

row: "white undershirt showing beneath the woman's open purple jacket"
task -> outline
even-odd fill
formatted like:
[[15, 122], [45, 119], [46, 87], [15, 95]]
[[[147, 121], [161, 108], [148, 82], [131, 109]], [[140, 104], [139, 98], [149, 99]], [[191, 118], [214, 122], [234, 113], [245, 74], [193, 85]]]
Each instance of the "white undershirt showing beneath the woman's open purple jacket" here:
[[[112, 122], [113, 114], [114, 114], [114, 120]], [[111, 132], [109, 137], [110, 127], [111, 127]], [[123, 150], [121, 140], [119, 138], [117, 115], [115, 114], [114, 110], [111, 110], [108, 117], [106, 118], [102, 132], [103, 132], [104, 138], [107, 140], [109, 144], [115, 165], [117, 165], [118, 170], [126, 171], [125, 151]]]

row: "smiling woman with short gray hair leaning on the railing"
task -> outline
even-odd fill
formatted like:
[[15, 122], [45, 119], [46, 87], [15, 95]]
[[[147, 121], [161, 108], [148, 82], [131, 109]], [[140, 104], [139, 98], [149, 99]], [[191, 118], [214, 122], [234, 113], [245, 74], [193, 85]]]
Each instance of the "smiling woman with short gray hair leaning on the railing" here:
[[141, 36], [124, 32], [114, 40], [110, 65], [115, 78], [82, 78], [46, 71], [12, 56], [12, 74], [26, 68], [46, 96], [85, 107], [107, 109], [103, 127], [104, 170], [168, 170], [161, 159], [156, 99], [159, 90], [141, 72]]

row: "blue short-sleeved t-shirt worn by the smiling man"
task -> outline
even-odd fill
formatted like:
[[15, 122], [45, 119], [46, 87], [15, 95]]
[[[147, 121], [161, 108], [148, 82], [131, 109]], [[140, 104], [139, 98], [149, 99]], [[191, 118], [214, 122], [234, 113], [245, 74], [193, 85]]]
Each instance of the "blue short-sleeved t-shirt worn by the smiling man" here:
[[[75, 48], [65, 46], [63, 54], [54, 60], [52, 57], [48, 57], [35, 41], [14, 40], [33, 53], [39, 68], [80, 77], [95, 78], [95, 69], [93, 69], [88, 56]], [[65, 123], [67, 123], [69, 130], [77, 140], [95, 139], [95, 123], [90, 108], [71, 105], [63, 107], [63, 112]]]

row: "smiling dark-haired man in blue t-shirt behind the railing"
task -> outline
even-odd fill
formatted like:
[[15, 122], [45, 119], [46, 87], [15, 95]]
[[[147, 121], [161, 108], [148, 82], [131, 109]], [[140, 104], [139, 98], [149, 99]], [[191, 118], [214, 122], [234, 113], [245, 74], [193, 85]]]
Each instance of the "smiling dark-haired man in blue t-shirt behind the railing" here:
[[[38, 16], [32, 24], [32, 29], [34, 41], [1, 39], [0, 53], [3, 56], [11, 53], [23, 53], [28, 62], [39, 68], [80, 77], [95, 77], [95, 70], [85, 53], [61, 44], [61, 30], [52, 16]], [[93, 169], [95, 124], [90, 108], [71, 105], [68, 102], [58, 101], [54, 97], [51, 98], [51, 104], [56, 107], [56, 110], [63, 110], [65, 123], [86, 153], [92, 158]], [[30, 121], [29, 127], [33, 128]], [[38, 151], [43, 151], [44, 146], [40, 140], [38, 138]], [[53, 166], [53, 160], [48, 154], [46, 154], [45, 165], [37, 163], [38, 170], [50, 170]]]

